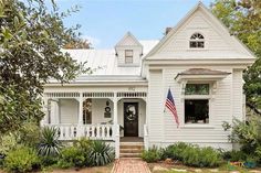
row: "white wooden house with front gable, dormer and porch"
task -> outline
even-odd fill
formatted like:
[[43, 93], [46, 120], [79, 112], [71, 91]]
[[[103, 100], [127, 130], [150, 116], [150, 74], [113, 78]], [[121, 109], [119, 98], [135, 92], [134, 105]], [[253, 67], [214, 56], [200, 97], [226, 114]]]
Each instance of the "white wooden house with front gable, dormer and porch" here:
[[[112, 50], [65, 51], [94, 72], [44, 86], [42, 125], [58, 127], [61, 140], [106, 140], [116, 158], [127, 137], [146, 149], [177, 141], [232, 148], [222, 122], [244, 119], [242, 72], [254, 55], [201, 2], [160, 41], [128, 32]], [[179, 128], [164, 111], [168, 88]]]

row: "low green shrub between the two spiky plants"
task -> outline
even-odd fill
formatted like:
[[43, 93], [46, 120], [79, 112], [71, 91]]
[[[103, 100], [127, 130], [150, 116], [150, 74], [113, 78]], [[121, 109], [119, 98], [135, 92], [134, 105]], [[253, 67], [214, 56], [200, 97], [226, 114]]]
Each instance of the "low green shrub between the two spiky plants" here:
[[87, 165], [84, 153], [76, 147], [64, 148], [61, 151], [58, 165], [62, 169], [82, 167]]

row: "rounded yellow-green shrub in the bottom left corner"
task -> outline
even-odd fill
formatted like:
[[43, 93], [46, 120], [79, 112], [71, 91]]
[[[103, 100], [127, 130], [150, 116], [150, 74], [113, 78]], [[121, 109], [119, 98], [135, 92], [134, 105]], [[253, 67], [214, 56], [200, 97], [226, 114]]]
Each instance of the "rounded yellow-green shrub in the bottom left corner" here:
[[7, 154], [3, 166], [9, 172], [29, 172], [40, 167], [40, 160], [31, 148], [19, 147]]

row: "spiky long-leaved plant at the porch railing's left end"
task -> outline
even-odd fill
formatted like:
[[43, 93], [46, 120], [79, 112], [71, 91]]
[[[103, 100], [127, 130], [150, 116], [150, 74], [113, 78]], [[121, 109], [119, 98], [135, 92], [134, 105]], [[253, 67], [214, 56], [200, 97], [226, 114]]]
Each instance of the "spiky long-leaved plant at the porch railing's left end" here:
[[42, 156], [56, 156], [62, 148], [59, 141], [59, 130], [54, 127], [44, 127], [41, 131], [41, 140], [38, 152]]

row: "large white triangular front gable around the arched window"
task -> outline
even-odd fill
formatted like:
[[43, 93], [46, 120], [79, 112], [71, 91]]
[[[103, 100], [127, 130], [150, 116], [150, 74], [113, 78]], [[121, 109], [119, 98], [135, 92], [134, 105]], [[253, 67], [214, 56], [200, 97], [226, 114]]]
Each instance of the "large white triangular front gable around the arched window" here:
[[[203, 48], [191, 48], [190, 36], [203, 35]], [[146, 56], [146, 60], [254, 58], [251, 52], [199, 2]]]

